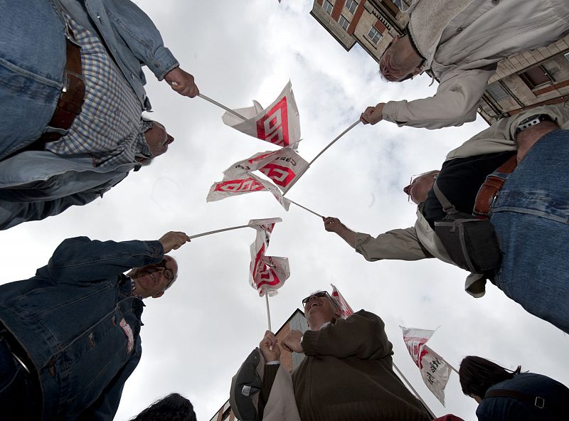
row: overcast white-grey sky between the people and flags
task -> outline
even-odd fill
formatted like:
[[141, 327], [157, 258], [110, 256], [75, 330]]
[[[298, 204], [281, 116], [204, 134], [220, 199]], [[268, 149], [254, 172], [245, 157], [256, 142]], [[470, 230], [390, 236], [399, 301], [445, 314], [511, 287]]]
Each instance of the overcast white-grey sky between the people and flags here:
[[[400, 85], [382, 82], [373, 59], [357, 46], [346, 53], [309, 15], [312, 0], [135, 2], [201, 92], [229, 107], [247, 107], [253, 99], [269, 105], [292, 80], [304, 138], [299, 152], [307, 160], [366, 106], [435, 92], [427, 76]], [[208, 102], [177, 95], [151, 73], [148, 80], [152, 118], [176, 138], [168, 154], [101, 200], [2, 233], [3, 260], [11, 262], [4, 265], [4, 282], [33, 276], [64, 238], [156, 240], [169, 230], [192, 235], [280, 216], [268, 254], [289, 257], [291, 276], [270, 299], [274, 328], [309, 292], [334, 282], [354, 310], [383, 318], [395, 363], [437, 415], [476, 420], [476, 403], [462, 395], [454, 374], [446, 408], [437, 402], [403, 345], [399, 325], [440, 326], [430, 346], [456, 367], [463, 356], [479, 355], [569, 384], [563, 332], [491, 285], [482, 299], [470, 297], [462, 270], [436, 260], [366, 262], [326, 233], [319, 218], [294, 205], [285, 212], [270, 193], [206, 203], [211, 184], [230, 164], [275, 147], [223, 125], [223, 111]], [[410, 176], [439, 168], [447, 151], [484, 127], [482, 119], [435, 131], [388, 122], [359, 125], [287, 196], [364, 233], [406, 228], [415, 220], [415, 206], [402, 192]], [[179, 280], [164, 297], [147, 300], [142, 361], [127, 381], [116, 420], [128, 420], [174, 391], [192, 401], [202, 421], [225, 403], [231, 376], [267, 328], [264, 299], [248, 284], [254, 238], [254, 230], [235, 230], [198, 238], [172, 253]]]

